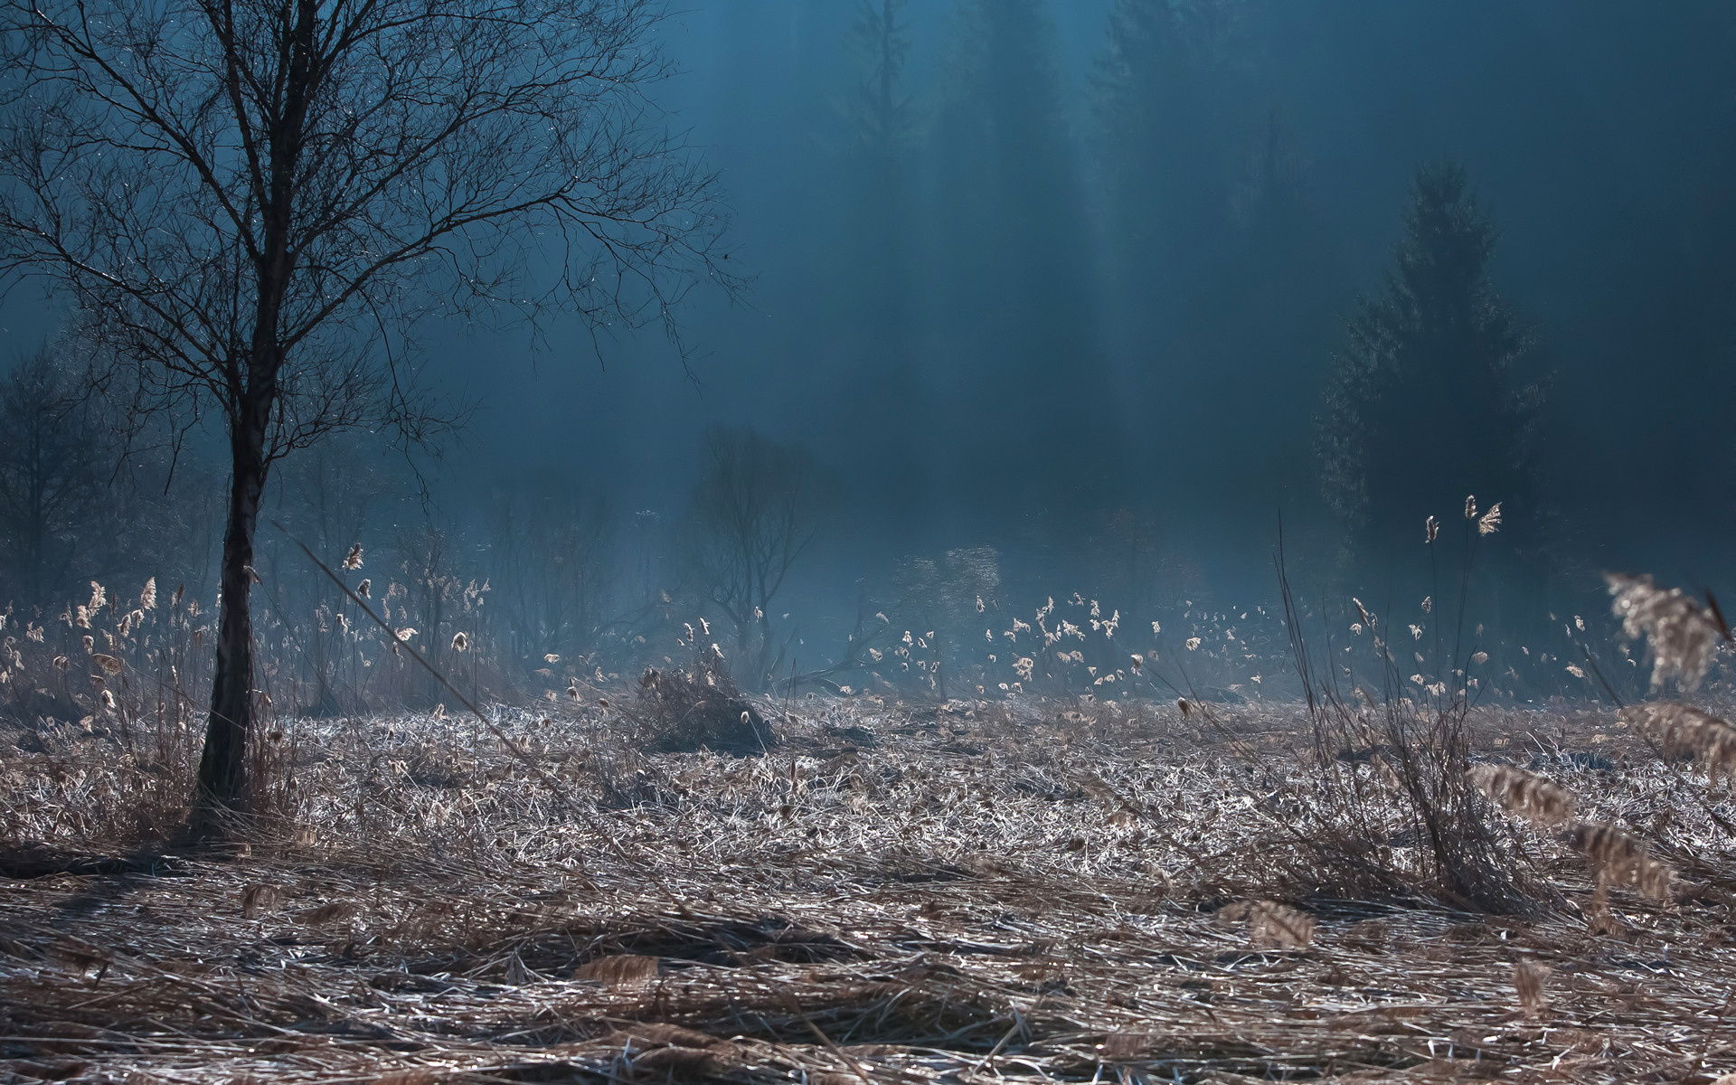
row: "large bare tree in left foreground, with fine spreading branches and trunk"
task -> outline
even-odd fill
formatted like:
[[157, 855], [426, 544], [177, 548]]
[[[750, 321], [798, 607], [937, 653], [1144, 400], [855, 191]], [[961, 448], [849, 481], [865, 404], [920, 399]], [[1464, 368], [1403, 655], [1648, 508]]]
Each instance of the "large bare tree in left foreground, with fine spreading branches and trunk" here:
[[[712, 179], [648, 92], [653, 0], [0, 0], [0, 271], [215, 413], [222, 615], [193, 826], [247, 807], [248, 566], [271, 465], [439, 431], [411, 328], [661, 323], [713, 260]], [[95, 375], [97, 380], [102, 373]]]

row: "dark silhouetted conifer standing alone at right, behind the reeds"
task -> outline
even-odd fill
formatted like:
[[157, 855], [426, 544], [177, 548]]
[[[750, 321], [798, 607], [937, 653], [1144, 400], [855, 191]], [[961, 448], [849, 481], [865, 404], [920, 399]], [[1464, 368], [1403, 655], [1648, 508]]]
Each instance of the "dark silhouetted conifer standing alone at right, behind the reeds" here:
[[1424, 540], [1467, 495], [1502, 502], [1536, 545], [1538, 351], [1488, 278], [1495, 224], [1463, 167], [1411, 182], [1382, 292], [1363, 299], [1326, 385], [1318, 443], [1326, 500], [1364, 556]]

